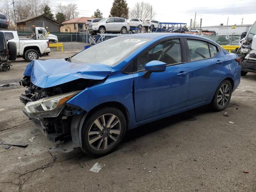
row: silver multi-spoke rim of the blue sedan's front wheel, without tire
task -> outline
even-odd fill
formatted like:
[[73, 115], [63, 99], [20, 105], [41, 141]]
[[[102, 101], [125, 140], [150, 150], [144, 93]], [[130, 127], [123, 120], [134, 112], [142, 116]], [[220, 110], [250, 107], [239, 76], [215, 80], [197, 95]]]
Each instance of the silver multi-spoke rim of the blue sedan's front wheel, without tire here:
[[107, 150], [115, 144], [121, 133], [121, 123], [114, 114], [98, 117], [88, 132], [88, 143], [94, 150]]

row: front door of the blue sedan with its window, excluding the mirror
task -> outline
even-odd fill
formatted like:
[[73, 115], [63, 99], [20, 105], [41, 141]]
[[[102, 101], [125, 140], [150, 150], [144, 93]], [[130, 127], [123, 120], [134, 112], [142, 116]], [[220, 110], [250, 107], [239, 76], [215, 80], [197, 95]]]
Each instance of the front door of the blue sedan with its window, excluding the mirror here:
[[[164, 72], [145, 76], [145, 64], [159, 60], [167, 64]], [[179, 39], [161, 42], [140, 56], [134, 73], [136, 121], [140, 122], [186, 107], [189, 88], [189, 64], [183, 63]]]

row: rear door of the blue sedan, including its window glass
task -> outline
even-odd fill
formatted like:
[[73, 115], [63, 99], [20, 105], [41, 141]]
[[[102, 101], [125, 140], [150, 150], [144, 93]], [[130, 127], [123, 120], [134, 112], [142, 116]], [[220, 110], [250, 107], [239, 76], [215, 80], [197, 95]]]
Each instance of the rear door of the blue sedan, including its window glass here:
[[224, 76], [224, 58], [219, 48], [207, 40], [187, 39], [187, 57], [190, 60], [190, 87], [188, 106], [211, 98]]

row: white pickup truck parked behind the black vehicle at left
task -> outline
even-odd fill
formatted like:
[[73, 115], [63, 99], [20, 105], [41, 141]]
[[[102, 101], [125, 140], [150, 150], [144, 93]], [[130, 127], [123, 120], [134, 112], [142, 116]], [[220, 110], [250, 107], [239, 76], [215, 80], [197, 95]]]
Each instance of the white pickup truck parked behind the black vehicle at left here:
[[5, 33], [8, 42], [15, 42], [17, 57], [22, 57], [28, 62], [38, 59], [42, 54], [49, 54], [48, 40], [20, 39], [16, 31], [1, 31]]

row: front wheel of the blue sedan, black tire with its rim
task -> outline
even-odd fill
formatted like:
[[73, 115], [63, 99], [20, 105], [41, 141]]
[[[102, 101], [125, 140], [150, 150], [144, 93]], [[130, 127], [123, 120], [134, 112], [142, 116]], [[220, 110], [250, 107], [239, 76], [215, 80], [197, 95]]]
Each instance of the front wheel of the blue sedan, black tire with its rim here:
[[[103, 118], [106, 122], [105, 126]], [[108, 122], [110, 122], [109, 126]], [[82, 127], [82, 150], [94, 156], [109, 154], [122, 141], [125, 130], [126, 119], [119, 109], [105, 107], [96, 110], [88, 116]]]

